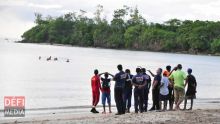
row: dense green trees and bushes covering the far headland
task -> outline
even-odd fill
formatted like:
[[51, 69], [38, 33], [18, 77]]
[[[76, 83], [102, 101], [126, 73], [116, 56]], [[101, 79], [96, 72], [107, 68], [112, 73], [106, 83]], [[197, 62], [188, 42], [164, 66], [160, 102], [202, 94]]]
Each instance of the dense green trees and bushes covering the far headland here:
[[21, 42], [220, 53], [220, 22], [171, 19], [163, 24], [149, 23], [137, 8], [127, 6], [115, 10], [111, 22], [101, 18], [101, 5], [97, 6], [95, 18], [86, 17], [83, 10], [80, 12], [56, 18], [43, 18], [41, 14], [35, 14], [36, 26], [22, 35]]

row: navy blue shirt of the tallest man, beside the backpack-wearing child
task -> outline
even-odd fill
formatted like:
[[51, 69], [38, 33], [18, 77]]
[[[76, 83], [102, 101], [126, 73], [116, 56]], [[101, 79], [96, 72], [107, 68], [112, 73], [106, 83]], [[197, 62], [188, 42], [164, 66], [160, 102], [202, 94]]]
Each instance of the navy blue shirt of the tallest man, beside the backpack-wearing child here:
[[116, 87], [124, 88], [126, 77], [127, 77], [127, 74], [123, 71], [120, 71], [119, 73], [117, 73], [114, 78], [115, 88]]

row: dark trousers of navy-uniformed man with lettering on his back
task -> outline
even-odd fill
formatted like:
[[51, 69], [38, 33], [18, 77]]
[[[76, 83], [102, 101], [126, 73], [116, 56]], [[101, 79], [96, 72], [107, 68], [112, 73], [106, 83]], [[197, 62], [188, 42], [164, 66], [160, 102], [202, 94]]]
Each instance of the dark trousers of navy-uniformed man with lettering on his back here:
[[134, 89], [134, 109], [135, 112], [143, 112], [143, 102], [144, 102], [144, 90], [143, 89]]

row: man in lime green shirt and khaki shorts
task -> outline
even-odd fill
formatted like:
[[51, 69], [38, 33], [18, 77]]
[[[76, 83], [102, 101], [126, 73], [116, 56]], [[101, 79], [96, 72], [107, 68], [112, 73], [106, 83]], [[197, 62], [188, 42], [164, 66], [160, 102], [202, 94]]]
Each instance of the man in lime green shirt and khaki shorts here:
[[176, 68], [177, 70], [169, 76], [169, 79], [174, 81], [175, 109], [179, 110], [179, 105], [183, 102], [185, 95], [184, 80], [186, 79], [186, 74], [182, 71], [181, 64], [178, 64]]

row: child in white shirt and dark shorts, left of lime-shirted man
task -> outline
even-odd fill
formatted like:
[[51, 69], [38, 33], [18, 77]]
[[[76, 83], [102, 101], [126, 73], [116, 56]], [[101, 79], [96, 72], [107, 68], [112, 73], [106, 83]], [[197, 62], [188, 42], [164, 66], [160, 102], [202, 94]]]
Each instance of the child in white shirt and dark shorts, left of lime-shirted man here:
[[[166, 75], [166, 73], [163, 73], [163, 77], [161, 79], [161, 85], [160, 85], [160, 102], [163, 101], [163, 111], [167, 110], [167, 100], [169, 98], [169, 79]], [[161, 107], [162, 109], [162, 107]]]

